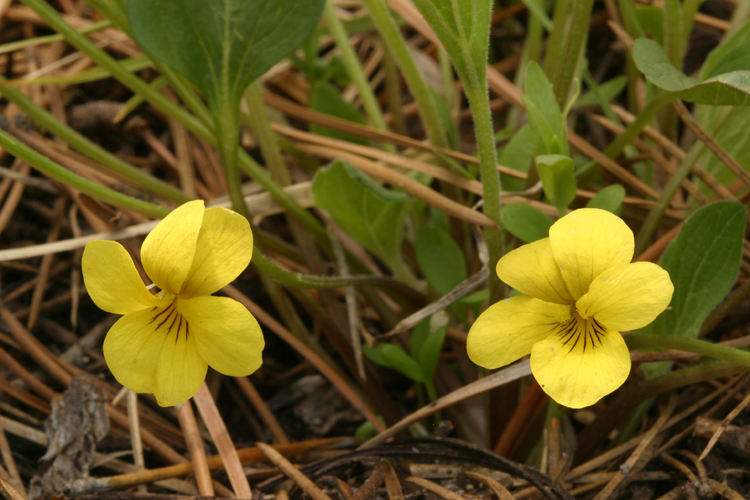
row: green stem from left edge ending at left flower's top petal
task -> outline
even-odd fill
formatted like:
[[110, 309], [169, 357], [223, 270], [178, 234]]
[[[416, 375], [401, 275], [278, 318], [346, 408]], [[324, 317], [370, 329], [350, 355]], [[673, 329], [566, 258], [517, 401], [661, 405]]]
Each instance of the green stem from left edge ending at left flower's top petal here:
[[47, 177], [55, 179], [73, 189], [77, 189], [94, 199], [157, 219], [164, 217], [170, 212], [168, 208], [160, 207], [159, 205], [154, 205], [153, 203], [148, 203], [137, 198], [131, 198], [112, 189], [95, 184], [88, 179], [84, 179], [46, 156], [40, 155], [8, 134], [5, 130], [0, 130], [0, 147], [13, 156], [25, 161]]

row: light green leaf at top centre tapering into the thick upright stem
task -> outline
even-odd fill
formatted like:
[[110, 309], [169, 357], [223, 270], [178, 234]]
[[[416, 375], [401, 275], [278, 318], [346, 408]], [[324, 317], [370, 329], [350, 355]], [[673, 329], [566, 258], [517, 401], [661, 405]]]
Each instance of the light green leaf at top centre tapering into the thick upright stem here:
[[484, 83], [492, 0], [414, 0], [465, 82]]

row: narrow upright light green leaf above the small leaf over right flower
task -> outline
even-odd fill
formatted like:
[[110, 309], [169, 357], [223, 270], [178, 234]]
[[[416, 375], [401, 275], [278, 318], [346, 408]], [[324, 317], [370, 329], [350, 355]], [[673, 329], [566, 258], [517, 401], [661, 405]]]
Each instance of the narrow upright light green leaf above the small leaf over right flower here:
[[534, 155], [568, 154], [565, 120], [544, 70], [535, 62], [526, 67], [523, 103], [532, 131]]

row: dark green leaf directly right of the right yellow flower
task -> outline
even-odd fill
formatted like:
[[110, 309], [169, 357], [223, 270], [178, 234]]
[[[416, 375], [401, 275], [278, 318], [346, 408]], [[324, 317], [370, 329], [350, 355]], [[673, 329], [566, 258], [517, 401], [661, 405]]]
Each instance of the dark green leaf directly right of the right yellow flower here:
[[670, 309], [637, 333], [697, 337], [737, 279], [746, 217], [741, 203], [720, 201], [685, 221], [660, 263], [674, 284]]

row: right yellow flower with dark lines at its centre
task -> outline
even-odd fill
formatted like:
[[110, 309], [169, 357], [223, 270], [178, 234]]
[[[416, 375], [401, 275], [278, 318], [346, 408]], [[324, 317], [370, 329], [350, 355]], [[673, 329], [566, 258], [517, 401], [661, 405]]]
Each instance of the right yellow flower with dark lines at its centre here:
[[619, 217], [571, 212], [549, 238], [509, 252], [497, 275], [523, 296], [490, 306], [469, 331], [467, 352], [485, 368], [531, 353], [531, 371], [552, 399], [583, 408], [620, 387], [630, 352], [620, 335], [651, 323], [669, 304], [669, 274], [634, 262], [633, 233]]

